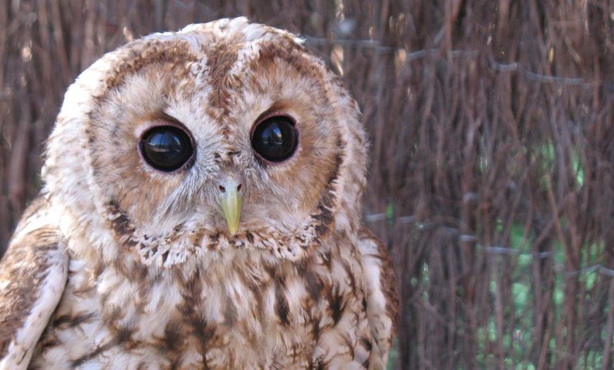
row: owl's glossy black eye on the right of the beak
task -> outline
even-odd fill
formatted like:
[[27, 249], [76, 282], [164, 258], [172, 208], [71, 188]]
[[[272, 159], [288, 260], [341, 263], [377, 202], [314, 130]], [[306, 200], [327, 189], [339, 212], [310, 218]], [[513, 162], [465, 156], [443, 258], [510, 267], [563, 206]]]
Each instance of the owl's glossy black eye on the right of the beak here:
[[251, 146], [263, 160], [284, 162], [296, 152], [299, 131], [289, 117], [275, 116], [258, 123], [251, 136]]

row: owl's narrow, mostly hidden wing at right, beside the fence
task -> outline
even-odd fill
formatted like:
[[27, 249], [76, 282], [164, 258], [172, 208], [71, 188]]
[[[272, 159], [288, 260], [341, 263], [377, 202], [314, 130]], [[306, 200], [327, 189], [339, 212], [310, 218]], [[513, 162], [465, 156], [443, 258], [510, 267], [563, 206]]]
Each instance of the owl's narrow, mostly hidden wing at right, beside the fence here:
[[367, 316], [371, 334], [378, 343], [385, 369], [392, 338], [399, 323], [399, 294], [395, 271], [386, 246], [363, 227], [359, 234], [358, 249], [368, 282]]

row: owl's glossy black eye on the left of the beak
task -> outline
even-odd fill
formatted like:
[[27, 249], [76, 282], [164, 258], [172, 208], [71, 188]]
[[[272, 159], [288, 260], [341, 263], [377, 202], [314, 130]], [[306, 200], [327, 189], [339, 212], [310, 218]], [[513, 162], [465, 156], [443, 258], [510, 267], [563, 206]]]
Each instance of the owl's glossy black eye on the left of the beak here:
[[176, 126], [156, 126], [145, 132], [139, 150], [148, 165], [164, 172], [180, 169], [194, 154], [190, 136]]

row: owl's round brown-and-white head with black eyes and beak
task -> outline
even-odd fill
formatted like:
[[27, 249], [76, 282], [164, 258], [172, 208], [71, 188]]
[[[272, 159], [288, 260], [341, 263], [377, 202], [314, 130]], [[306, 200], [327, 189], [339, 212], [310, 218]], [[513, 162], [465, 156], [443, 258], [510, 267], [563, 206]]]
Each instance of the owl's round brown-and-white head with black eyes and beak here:
[[166, 264], [252, 246], [299, 258], [356, 232], [365, 172], [339, 78], [294, 35], [236, 18], [144, 37], [84, 71], [44, 180], [83, 227], [108, 231], [93, 239]]

